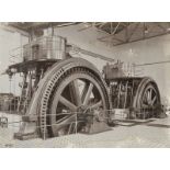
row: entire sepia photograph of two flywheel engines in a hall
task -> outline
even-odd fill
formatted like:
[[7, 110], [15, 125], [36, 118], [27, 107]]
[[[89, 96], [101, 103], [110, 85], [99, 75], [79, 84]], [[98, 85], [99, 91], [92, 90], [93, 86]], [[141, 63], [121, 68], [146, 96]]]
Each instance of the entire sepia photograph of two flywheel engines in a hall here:
[[1, 148], [169, 148], [170, 22], [1, 22]]

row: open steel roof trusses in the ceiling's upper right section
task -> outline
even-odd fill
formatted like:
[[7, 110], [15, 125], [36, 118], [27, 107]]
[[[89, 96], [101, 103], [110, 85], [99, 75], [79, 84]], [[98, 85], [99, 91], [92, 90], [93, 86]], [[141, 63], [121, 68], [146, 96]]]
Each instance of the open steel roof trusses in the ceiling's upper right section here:
[[168, 22], [92, 22], [84, 24], [87, 24], [87, 26], [79, 31], [94, 27], [105, 34], [98, 39], [111, 46], [143, 41], [170, 33], [170, 23]]

